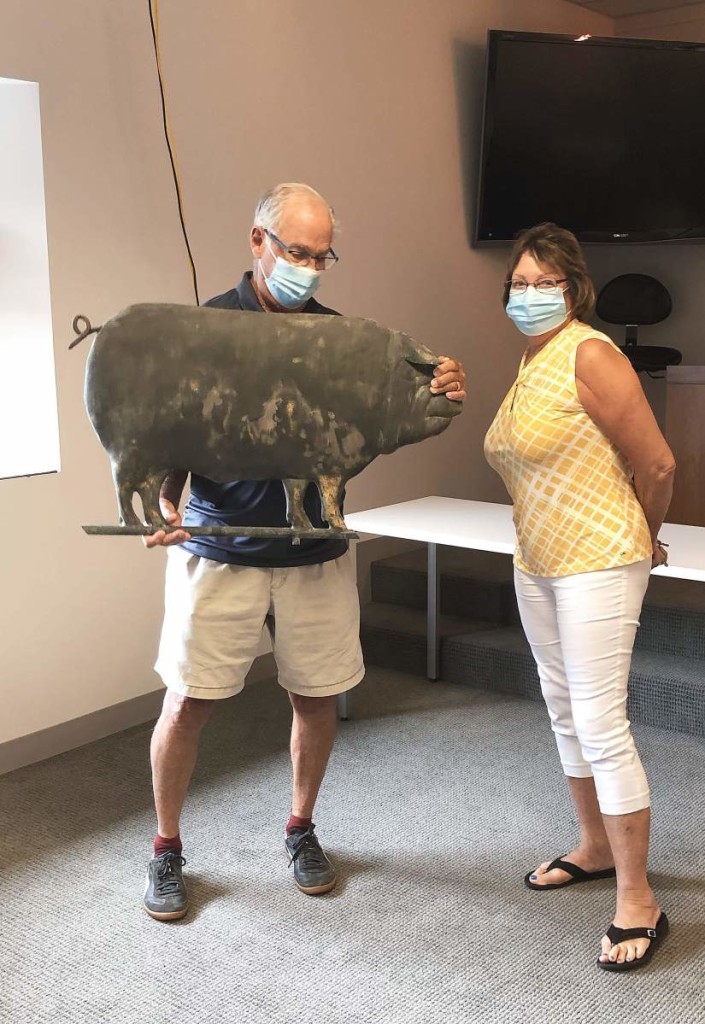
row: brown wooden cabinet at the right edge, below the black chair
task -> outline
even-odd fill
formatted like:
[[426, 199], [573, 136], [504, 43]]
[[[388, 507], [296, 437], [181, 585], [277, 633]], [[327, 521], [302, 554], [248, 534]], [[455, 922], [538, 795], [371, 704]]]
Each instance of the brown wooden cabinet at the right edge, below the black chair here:
[[668, 367], [665, 434], [676, 462], [666, 520], [705, 526], [705, 366]]

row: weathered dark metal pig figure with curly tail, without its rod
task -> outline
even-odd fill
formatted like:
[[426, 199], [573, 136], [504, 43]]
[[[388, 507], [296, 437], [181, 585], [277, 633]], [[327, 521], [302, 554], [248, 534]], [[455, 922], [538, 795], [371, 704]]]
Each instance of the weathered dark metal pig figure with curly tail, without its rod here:
[[329, 528], [344, 529], [345, 481], [441, 433], [461, 409], [431, 394], [432, 352], [360, 317], [144, 303], [101, 328], [77, 316], [74, 330], [72, 346], [97, 332], [86, 408], [125, 526], [141, 526], [135, 492], [148, 523], [165, 525], [161, 485], [184, 470], [217, 483], [282, 480], [302, 534], [314, 529], [303, 509], [314, 481]]

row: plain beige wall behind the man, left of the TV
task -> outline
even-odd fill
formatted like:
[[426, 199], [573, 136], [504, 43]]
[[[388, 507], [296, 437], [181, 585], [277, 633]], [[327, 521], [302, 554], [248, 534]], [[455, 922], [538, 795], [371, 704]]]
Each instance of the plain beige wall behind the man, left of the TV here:
[[[115, 521], [115, 508], [83, 412], [87, 348], [67, 351], [78, 312], [100, 323], [129, 302], [191, 298], [146, 6], [3, 0], [0, 74], [41, 86], [64, 469], [0, 481], [0, 741], [158, 685], [162, 553], [80, 530]], [[260, 189], [308, 180], [342, 223], [323, 299], [467, 367], [462, 420], [371, 466], [350, 509], [431, 493], [503, 499], [481, 441], [521, 346], [497, 298], [506, 254], [470, 249], [465, 218], [486, 32], [609, 35], [612, 22], [563, 0], [160, 6], [203, 294], [247, 265]]]

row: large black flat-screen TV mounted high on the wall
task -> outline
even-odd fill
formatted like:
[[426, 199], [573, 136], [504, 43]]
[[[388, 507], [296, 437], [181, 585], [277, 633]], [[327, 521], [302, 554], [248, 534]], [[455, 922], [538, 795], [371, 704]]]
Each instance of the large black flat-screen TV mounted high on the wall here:
[[705, 240], [705, 46], [489, 33], [475, 243]]

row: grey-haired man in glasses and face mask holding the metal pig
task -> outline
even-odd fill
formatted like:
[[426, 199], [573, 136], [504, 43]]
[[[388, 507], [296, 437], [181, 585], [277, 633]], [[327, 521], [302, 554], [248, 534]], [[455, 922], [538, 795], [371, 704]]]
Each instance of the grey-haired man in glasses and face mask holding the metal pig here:
[[[254, 269], [237, 288], [206, 305], [266, 313], [335, 314], [314, 298], [322, 273], [337, 262], [333, 211], [314, 188], [277, 185], [257, 205], [250, 231]], [[462, 367], [444, 357], [434, 393], [461, 400]], [[162, 488], [167, 522], [181, 526], [178, 503], [186, 474], [171, 474]], [[304, 507], [325, 526], [315, 485]], [[158, 835], [148, 870], [144, 907], [153, 918], [182, 918], [188, 896], [181, 873], [179, 818], [196, 764], [199, 736], [217, 699], [240, 692], [262, 627], [273, 638], [279, 682], [293, 710], [291, 815], [285, 845], [294, 881], [309, 895], [335, 885], [335, 869], [321, 848], [314, 807], [336, 731], [336, 697], [364, 675], [360, 606], [345, 541], [197, 537], [189, 525], [287, 525], [279, 480], [216, 484], [192, 475], [184, 529], [160, 530], [148, 547], [170, 547], [165, 617], [157, 671], [167, 687], [152, 739]], [[176, 547], [178, 545], [178, 547]]]

